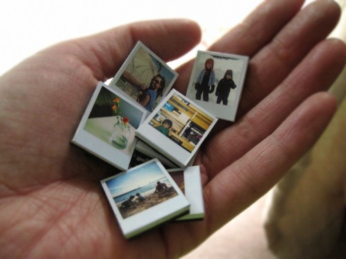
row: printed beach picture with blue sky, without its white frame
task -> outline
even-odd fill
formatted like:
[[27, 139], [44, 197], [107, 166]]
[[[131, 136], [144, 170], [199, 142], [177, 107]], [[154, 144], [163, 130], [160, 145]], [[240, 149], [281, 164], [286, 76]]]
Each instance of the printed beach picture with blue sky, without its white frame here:
[[115, 175], [106, 184], [123, 219], [178, 195], [156, 162]]

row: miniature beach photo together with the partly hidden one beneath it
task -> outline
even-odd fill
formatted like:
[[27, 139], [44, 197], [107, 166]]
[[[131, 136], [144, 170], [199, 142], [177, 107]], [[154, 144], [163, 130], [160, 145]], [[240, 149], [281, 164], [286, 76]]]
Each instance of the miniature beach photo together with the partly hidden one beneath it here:
[[199, 166], [167, 172], [149, 160], [101, 181], [125, 238], [168, 220], [204, 216]]

